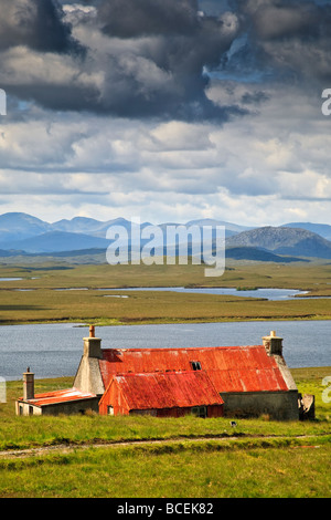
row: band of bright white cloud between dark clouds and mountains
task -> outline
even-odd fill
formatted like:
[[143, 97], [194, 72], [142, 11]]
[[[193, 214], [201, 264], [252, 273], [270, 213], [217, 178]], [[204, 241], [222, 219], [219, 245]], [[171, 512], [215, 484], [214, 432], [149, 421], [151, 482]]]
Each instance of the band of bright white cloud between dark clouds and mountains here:
[[109, 211], [161, 221], [207, 215], [277, 225], [313, 215], [328, 221], [329, 122], [310, 105], [309, 125], [302, 124], [302, 100], [288, 93], [279, 108], [273, 92], [259, 113], [222, 127], [61, 113], [50, 122], [47, 112], [25, 122], [6, 119], [1, 193], [12, 197], [12, 207], [17, 194], [42, 193], [45, 205], [54, 205], [54, 218], [62, 211], [54, 195], [62, 194], [66, 208], [73, 200], [72, 216], [104, 218]]

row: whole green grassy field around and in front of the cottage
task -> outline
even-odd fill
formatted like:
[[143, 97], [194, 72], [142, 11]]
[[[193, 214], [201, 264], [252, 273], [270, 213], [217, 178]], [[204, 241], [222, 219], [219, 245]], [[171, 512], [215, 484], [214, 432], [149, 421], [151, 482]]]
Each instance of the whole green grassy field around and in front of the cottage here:
[[[0, 497], [330, 498], [331, 404], [322, 379], [331, 367], [292, 374], [300, 392], [316, 395], [316, 420], [238, 419], [235, 429], [226, 418], [17, 417], [22, 383], [9, 382], [0, 405], [0, 450], [8, 454], [0, 454]], [[36, 391], [71, 384], [41, 379]], [[49, 450], [10, 454], [36, 448]]]

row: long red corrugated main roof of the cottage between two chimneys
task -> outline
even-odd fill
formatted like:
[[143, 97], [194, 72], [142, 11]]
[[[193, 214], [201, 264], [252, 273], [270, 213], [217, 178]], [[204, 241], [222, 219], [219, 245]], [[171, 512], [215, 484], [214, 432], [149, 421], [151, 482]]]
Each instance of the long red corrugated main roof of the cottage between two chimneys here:
[[119, 373], [186, 372], [200, 362], [218, 393], [276, 392], [288, 386], [263, 345], [190, 349], [103, 350], [99, 361], [105, 387]]

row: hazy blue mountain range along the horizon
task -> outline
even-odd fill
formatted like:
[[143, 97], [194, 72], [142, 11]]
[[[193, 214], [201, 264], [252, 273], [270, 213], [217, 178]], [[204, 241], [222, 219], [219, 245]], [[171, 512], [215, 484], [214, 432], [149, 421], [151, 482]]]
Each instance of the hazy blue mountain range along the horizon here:
[[[164, 230], [170, 222], [159, 223]], [[179, 226], [179, 223], [171, 222]], [[31, 215], [0, 215], [0, 257], [18, 254], [82, 256], [102, 252], [109, 246], [106, 232], [111, 226], [130, 229], [131, 222], [117, 218], [99, 221], [75, 217], [50, 223]], [[149, 222], [141, 223], [141, 228]], [[222, 220], [191, 220], [184, 226], [224, 226], [226, 257], [256, 261], [298, 261], [302, 258], [331, 259], [331, 226], [290, 222], [279, 227], [250, 228]]]

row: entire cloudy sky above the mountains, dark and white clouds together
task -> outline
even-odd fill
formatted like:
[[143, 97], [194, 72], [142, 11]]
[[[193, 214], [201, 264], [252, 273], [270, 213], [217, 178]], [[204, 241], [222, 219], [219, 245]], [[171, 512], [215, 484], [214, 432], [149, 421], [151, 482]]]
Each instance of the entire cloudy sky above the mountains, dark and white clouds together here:
[[330, 1], [0, 9], [0, 214], [331, 225]]

